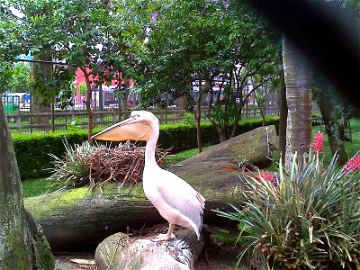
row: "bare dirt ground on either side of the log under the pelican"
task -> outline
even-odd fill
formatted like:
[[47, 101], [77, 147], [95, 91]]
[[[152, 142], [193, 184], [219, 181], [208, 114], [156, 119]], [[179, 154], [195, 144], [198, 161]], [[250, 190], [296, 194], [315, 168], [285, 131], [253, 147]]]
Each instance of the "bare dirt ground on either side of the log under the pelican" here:
[[[239, 247], [209, 241], [202, 256], [195, 264], [195, 270], [234, 270], [239, 251]], [[55, 254], [55, 266], [58, 270], [97, 269], [94, 252]]]

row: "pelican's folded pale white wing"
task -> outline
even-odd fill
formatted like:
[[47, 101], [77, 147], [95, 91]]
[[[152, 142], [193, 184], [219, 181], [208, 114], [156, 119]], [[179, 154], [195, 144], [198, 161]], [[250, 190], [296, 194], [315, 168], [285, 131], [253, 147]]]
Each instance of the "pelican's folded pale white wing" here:
[[201, 230], [202, 213], [205, 199], [201, 193], [193, 189], [179, 176], [166, 170], [161, 170], [161, 181], [157, 182], [157, 190], [164, 201], [184, 216], [193, 220]]

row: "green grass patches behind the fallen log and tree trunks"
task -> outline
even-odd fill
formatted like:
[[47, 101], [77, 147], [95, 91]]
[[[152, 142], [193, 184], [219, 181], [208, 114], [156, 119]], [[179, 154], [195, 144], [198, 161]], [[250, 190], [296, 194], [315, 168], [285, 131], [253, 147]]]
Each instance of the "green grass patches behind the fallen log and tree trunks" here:
[[[350, 121], [352, 141], [345, 141], [345, 148], [347, 149], [347, 157], [353, 157], [360, 150], [360, 119], [352, 119]], [[312, 138], [315, 133], [320, 130], [324, 131], [324, 126], [315, 126], [312, 130]], [[348, 132], [348, 130], [347, 130]], [[211, 148], [211, 146], [204, 147], [203, 150]], [[169, 165], [183, 161], [186, 158], [193, 157], [198, 153], [197, 148], [185, 150], [174, 155], [169, 155], [166, 157], [166, 162]], [[329, 148], [329, 140], [327, 136], [324, 136], [324, 164], [329, 164], [329, 160], [332, 157], [331, 151]], [[279, 154], [277, 151], [274, 153], [273, 165], [269, 168], [270, 171], [276, 171], [278, 168], [277, 162], [279, 161]], [[46, 192], [54, 191], [56, 188], [49, 190], [49, 180], [45, 178], [33, 179], [23, 181], [23, 196], [24, 198], [37, 196]]]

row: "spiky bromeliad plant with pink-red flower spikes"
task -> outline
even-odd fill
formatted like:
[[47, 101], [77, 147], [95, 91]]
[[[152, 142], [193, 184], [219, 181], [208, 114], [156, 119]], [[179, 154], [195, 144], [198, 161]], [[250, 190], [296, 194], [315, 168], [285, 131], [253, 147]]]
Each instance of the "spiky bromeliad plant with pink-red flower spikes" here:
[[267, 269], [360, 269], [360, 155], [340, 170], [335, 155], [325, 168], [321, 138], [315, 153], [293, 155], [289, 172], [279, 162], [278, 183], [247, 177], [243, 208], [217, 211], [257, 232], [238, 262], [250, 251], [251, 264]]

